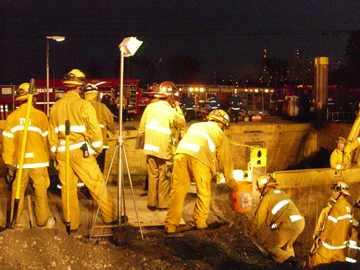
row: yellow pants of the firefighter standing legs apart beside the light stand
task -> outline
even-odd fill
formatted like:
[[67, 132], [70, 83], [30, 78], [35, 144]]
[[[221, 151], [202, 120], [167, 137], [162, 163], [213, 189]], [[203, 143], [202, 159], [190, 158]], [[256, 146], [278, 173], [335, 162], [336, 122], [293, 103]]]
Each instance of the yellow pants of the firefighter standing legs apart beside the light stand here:
[[[65, 173], [65, 152], [56, 154], [58, 162], [57, 169], [62, 184], [61, 197], [64, 217], [67, 217], [66, 207], [66, 173]], [[96, 204], [99, 204], [100, 197], [105, 185], [103, 174], [94, 156], [83, 157], [80, 149], [70, 151], [70, 173], [69, 173], [69, 190], [70, 190], [70, 230], [76, 230], [80, 226], [80, 208], [77, 197], [77, 184], [80, 179], [89, 189], [91, 196]], [[104, 195], [101, 201], [100, 213], [105, 223], [117, 219], [116, 208], [108, 189], [105, 187]]]

